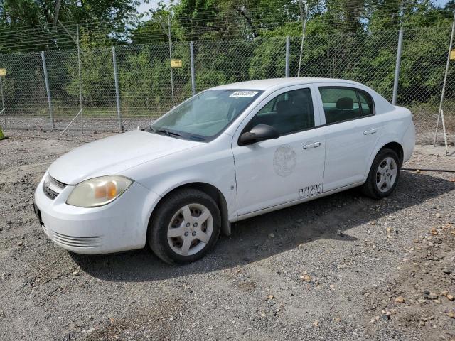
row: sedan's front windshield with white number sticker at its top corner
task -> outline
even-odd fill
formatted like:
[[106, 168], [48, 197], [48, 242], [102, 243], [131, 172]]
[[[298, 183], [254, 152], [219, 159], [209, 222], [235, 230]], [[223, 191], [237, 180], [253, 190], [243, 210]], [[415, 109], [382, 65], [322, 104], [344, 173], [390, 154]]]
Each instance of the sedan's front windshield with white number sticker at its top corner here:
[[207, 90], [172, 109], [148, 131], [208, 141], [220, 134], [261, 93], [258, 90]]

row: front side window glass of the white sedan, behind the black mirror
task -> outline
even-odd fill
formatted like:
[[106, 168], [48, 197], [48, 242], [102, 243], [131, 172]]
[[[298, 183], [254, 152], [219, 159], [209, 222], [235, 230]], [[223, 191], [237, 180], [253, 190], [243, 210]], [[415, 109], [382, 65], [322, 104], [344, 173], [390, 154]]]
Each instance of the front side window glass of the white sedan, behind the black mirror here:
[[280, 135], [314, 127], [311, 90], [292, 90], [275, 97], [256, 114], [250, 128], [257, 124], [273, 126]]

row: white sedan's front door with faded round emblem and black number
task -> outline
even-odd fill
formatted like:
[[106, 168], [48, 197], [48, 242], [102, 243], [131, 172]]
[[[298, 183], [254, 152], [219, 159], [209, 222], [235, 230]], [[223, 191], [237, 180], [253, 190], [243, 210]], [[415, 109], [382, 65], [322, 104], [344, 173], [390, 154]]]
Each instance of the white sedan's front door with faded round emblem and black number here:
[[268, 124], [279, 138], [232, 142], [239, 215], [322, 193], [326, 146], [314, 98], [309, 86], [275, 92], [242, 131]]

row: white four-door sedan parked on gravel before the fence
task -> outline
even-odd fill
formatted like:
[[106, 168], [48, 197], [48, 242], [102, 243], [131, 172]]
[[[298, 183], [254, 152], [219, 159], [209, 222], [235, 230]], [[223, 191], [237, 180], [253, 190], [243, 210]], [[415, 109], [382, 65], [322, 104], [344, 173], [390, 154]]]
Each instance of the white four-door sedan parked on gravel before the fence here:
[[213, 87], [144, 130], [58, 158], [35, 192], [45, 234], [80, 254], [188, 263], [230, 224], [360, 186], [390, 195], [414, 149], [408, 109], [349, 80]]

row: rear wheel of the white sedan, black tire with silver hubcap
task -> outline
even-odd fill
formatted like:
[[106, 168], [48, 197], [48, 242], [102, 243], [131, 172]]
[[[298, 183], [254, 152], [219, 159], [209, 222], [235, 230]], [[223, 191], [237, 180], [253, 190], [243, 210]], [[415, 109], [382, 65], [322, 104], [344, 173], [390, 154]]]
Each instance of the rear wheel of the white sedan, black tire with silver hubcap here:
[[388, 197], [397, 187], [400, 178], [400, 158], [389, 148], [381, 149], [375, 157], [362, 185], [362, 193], [374, 199]]

